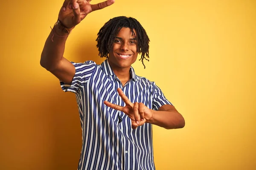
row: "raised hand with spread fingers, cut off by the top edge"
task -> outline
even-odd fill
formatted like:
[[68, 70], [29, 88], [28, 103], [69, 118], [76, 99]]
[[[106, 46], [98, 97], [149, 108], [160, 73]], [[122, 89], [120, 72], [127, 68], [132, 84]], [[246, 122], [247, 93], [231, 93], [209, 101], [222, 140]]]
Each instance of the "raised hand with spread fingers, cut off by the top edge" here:
[[102, 3], [90, 4], [91, 0], [65, 0], [58, 15], [58, 19], [67, 28], [73, 28], [83, 20], [87, 14], [107, 6], [115, 0], [106, 0]]

